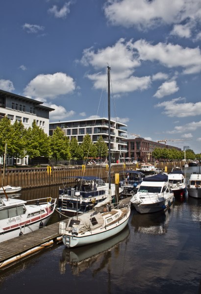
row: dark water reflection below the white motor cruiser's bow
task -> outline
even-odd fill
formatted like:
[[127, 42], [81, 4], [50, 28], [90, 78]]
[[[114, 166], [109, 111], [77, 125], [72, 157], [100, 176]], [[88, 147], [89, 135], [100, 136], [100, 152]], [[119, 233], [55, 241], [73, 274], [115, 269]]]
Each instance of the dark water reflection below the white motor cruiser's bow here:
[[134, 211], [131, 225], [135, 228], [135, 232], [154, 235], [166, 234], [170, 215], [171, 208], [166, 211], [149, 214], [139, 214]]

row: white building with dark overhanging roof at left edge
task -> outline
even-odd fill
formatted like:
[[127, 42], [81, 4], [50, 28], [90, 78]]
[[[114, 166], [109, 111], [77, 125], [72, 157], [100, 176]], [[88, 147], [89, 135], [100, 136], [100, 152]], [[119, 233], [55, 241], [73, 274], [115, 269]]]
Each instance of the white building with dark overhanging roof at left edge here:
[[[53, 108], [42, 105], [43, 102], [0, 90], [0, 119], [7, 116], [11, 123], [22, 121], [25, 128], [32, 126], [33, 121], [49, 135], [49, 115]], [[1, 163], [2, 159], [0, 159]], [[10, 158], [8, 164], [12, 163]], [[18, 164], [26, 164], [27, 158]]]

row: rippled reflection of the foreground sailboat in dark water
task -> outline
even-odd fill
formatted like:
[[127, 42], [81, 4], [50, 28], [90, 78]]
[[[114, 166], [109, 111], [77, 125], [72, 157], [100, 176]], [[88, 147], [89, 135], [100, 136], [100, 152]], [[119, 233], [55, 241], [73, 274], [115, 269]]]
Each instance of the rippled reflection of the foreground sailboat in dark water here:
[[104, 242], [74, 249], [65, 247], [59, 261], [60, 273], [64, 274], [66, 272], [67, 264], [70, 265], [74, 275], [79, 275], [82, 271], [87, 270], [92, 265], [96, 264], [96, 268], [93, 270], [93, 274], [96, 274], [109, 263], [111, 251], [114, 250], [115, 256], [118, 258], [121, 242], [127, 242], [129, 232], [129, 227], [127, 225], [120, 234]]

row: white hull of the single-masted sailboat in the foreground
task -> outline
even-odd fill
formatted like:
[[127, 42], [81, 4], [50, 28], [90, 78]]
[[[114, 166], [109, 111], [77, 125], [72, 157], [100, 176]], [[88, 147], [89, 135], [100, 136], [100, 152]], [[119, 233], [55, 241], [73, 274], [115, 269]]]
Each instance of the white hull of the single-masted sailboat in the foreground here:
[[105, 226], [100, 227], [99, 229], [93, 231], [88, 231], [84, 235], [79, 233], [78, 235], [72, 235], [70, 234], [64, 234], [62, 236], [62, 240], [64, 245], [66, 245], [68, 248], [70, 247], [78, 247], [83, 245], [89, 245], [92, 243], [100, 242], [102, 240], [106, 240], [119, 232], [121, 232], [128, 223], [130, 215], [130, 208], [127, 211], [126, 216], [120, 220], [119, 222], [114, 223], [113, 225], [110, 225], [109, 228]]

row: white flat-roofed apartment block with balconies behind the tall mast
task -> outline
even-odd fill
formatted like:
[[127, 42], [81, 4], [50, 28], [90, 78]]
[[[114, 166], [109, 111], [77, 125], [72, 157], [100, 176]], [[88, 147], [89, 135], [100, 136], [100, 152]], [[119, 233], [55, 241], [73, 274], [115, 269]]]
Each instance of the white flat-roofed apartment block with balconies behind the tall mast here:
[[[71, 140], [72, 137], [76, 137], [77, 141], [81, 144], [84, 135], [89, 134], [93, 143], [96, 143], [100, 136], [102, 136], [105, 143], [108, 142], [108, 119], [86, 119], [76, 121], [54, 122], [50, 123], [50, 135], [56, 127], [60, 127], [64, 130], [66, 136]], [[127, 143], [123, 141], [127, 138], [127, 125], [124, 123], [110, 121], [111, 128], [111, 152], [113, 161], [119, 160], [122, 153], [127, 152]]]

